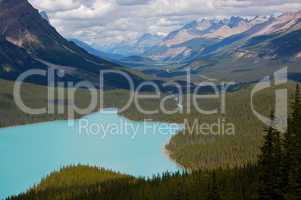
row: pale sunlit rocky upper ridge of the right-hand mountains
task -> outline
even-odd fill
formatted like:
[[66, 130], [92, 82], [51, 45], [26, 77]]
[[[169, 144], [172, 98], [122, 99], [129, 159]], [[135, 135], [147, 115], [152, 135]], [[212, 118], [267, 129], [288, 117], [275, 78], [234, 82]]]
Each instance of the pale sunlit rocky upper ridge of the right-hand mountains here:
[[244, 48], [254, 46], [255, 43], [264, 42], [263, 38], [296, 31], [300, 29], [300, 25], [300, 12], [251, 19], [203, 19], [171, 32], [144, 55], [157, 60], [186, 61], [214, 55], [217, 50], [237, 42], [244, 43], [241, 45]]

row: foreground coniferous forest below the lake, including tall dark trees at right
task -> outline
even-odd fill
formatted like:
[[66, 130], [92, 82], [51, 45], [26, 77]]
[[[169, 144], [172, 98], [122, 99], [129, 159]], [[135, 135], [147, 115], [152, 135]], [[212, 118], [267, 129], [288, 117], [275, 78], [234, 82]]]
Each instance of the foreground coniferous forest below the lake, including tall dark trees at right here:
[[[267, 127], [257, 164], [134, 178], [98, 168], [72, 166], [9, 200], [297, 200], [301, 198], [301, 94], [297, 85], [281, 134]], [[273, 114], [272, 114], [273, 116]], [[246, 127], [247, 128], [247, 127]]]

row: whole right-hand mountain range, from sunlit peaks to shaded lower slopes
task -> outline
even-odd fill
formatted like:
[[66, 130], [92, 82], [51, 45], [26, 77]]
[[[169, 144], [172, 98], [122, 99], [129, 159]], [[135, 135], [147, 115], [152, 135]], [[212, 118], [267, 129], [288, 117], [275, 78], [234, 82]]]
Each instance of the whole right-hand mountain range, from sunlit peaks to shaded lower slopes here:
[[300, 75], [300, 33], [301, 11], [201, 19], [158, 38], [136, 57], [153, 61], [148, 66], [159, 66], [155, 74], [162, 77], [166, 70], [183, 74], [179, 72], [192, 69], [195, 76], [252, 82], [285, 66], [295, 76]]

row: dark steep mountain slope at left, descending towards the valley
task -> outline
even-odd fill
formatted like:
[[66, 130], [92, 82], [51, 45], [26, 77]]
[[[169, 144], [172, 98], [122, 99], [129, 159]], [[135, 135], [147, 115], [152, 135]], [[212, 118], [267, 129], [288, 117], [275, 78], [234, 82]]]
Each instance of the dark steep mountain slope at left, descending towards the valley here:
[[54, 64], [71, 65], [89, 71], [114, 66], [65, 40], [27, 0], [0, 2], [0, 33], [32, 56]]

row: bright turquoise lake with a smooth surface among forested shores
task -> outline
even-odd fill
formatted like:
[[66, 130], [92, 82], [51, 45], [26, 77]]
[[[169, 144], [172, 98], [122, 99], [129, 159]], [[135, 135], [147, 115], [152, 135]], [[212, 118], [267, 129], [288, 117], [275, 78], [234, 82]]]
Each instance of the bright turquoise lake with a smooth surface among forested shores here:
[[133, 122], [108, 109], [81, 120], [0, 129], [0, 199], [25, 192], [50, 172], [71, 164], [149, 177], [180, 168], [164, 145], [183, 127]]

